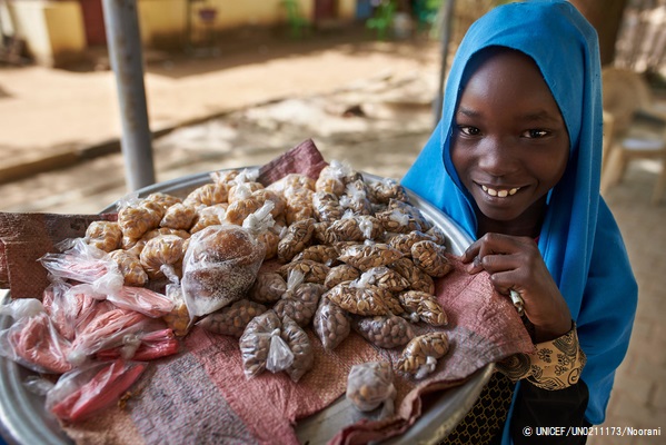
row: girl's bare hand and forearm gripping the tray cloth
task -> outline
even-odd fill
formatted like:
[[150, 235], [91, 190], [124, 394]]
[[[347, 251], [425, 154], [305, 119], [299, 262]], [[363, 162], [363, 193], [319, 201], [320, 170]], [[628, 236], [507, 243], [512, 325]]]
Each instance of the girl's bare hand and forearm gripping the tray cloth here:
[[469, 274], [481, 270], [499, 294], [513, 289], [525, 301], [525, 315], [535, 327], [535, 342], [551, 340], [571, 329], [571, 314], [531, 238], [486, 234], [461, 257]]

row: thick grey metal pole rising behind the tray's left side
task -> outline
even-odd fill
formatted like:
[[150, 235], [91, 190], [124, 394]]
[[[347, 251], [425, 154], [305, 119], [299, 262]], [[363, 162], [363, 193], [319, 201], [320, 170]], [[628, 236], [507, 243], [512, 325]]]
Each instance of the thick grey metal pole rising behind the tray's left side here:
[[118, 87], [125, 177], [128, 189], [133, 191], [155, 184], [137, 0], [103, 0], [103, 11], [109, 59]]

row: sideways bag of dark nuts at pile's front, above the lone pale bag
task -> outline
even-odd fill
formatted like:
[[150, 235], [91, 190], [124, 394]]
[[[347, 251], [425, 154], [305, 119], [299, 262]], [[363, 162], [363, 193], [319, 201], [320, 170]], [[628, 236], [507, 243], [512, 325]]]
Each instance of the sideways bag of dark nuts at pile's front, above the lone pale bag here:
[[411, 325], [397, 315], [356, 318], [351, 327], [372, 345], [390, 349], [414, 338]]

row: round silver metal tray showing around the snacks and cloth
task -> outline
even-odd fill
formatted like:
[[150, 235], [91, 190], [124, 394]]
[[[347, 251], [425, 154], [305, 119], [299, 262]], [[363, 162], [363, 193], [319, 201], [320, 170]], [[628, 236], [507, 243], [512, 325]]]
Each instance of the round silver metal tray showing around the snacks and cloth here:
[[[375, 175], [364, 174], [367, 179], [382, 179]], [[138, 190], [139, 197], [152, 192], [165, 192], [178, 197], [187, 196], [191, 190], [210, 182], [210, 174], [197, 174], [183, 178], [156, 184]], [[447, 249], [460, 255], [469, 246], [471, 239], [440, 210], [420, 199], [408, 190], [411, 202], [435, 222], [447, 235]], [[102, 212], [115, 211], [116, 204], [105, 208]], [[9, 291], [0, 290], [0, 303], [10, 299]], [[12, 319], [0, 317], [0, 330], [11, 326]], [[481, 389], [493, 374], [494, 365], [488, 364], [477, 370], [465, 384], [446, 389], [436, 396], [425, 408], [416, 423], [400, 436], [385, 441], [386, 444], [436, 444], [441, 441], [471, 409]], [[0, 357], [0, 432], [9, 444], [20, 445], [70, 445], [73, 442], [62, 432], [58, 422], [43, 406], [43, 398], [26, 390], [23, 380], [34, 373]], [[372, 418], [372, 413], [364, 414], [356, 409], [345, 396], [330, 406], [299, 421], [296, 434], [304, 444], [326, 444], [341, 428], [361, 418]]]

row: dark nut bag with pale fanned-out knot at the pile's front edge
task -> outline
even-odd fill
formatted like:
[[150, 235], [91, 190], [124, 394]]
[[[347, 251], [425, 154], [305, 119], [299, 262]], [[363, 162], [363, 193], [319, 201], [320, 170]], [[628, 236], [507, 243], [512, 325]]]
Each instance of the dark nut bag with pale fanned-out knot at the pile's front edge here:
[[275, 310], [252, 318], [240, 336], [240, 356], [245, 376], [249, 379], [268, 369], [278, 373], [294, 363], [294, 353], [281, 338], [282, 322]]

